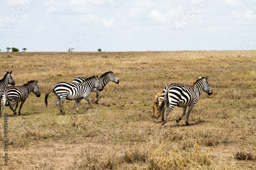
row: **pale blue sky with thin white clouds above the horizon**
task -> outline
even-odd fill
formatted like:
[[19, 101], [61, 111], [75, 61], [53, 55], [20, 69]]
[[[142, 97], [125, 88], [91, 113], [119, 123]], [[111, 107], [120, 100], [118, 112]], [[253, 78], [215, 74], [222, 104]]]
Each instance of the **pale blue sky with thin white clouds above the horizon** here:
[[0, 49], [256, 50], [256, 0], [0, 0]]

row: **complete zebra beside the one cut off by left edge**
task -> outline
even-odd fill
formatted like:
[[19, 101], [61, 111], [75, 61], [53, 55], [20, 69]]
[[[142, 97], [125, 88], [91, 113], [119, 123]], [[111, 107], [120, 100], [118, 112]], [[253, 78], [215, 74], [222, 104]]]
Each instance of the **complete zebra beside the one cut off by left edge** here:
[[[39, 86], [36, 80], [31, 80], [27, 84], [24, 84], [22, 86], [7, 87], [3, 95], [2, 111], [5, 106], [10, 106], [10, 109], [16, 115], [18, 103], [22, 102], [19, 106], [18, 111], [18, 115], [20, 115], [20, 110], [22, 110], [22, 106], [28, 98], [30, 92], [33, 92], [37, 96], [37, 98], [40, 97], [41, 93], [39, 91]], [[8, 104], [6, 104], [7, 102]], [[14, 105], [16, 105], [15, 109], [13, 109]]]

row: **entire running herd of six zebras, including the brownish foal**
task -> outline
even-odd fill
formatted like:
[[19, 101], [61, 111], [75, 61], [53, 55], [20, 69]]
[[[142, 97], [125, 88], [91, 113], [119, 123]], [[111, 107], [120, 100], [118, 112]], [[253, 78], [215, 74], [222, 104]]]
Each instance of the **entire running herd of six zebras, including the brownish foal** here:
[[[24, 84], [22, 86], [14, 86], [15, 82], [11, 77], [11, 73], [12, 71], [6, 71], [4, 78], [0, 80], [0, 102], [1, 99], [3, 102], [0, 116], [3, 115], [3, 108], [5, 106], [10, 106], [10, 109], [13, 111], [13, 113], [17, 114], [16, 109], [18, 107], [18, 102], [22, 102], [18, 111], [18, 114], [20, 115], [20, 110], [22, 109], [22, 106], [28, 98], [30, 92], [33, 92], [37, 97], [40, 96], [39, 86], [37, 85], [36, 80], [29, 81], [27, 84]], [[208, 95], [212, 94], [208, 79], [208, 76], [206, 78], [201, 78], [199, 76], [199, 79], [194, 83], [193, 86], [176, 83], [167, 85], [163, 89], [163, 92], [159, 92], [155, 96], [155, 104], [153, 105], [152, 118], [158, 118], [162, 115], [162, 125], [164, 125], [166, 123], [169, 112], [172, 111], [175, 106], [178, 106], [183, 108], [182, 116], [176, 120], [176, 122], [179, 123], [180, 120], [185, 116], [186, 108], [188, 107], [185, 123], [186, 125], [189, 125], [188, 117], [191, 110], [197, 103], [202, 91], [206, 92]], [[102, 91], [104, 86], [110, 81], [116, 84], [119, 83], [119, 80], [115, 77], [112, 71], [105, 72], [100, 77], [77, 77], [72, 82], [57, 83], [49, 92], [46, 93], [45, 105], [48, 106], [47, 99], [49, 93], [53, 91], [53, 93], [57, 97], [56, 105], [60, 110], [60, 114], [65, 114], [63, 103], [66, 99], [71, 101], [75, 100], [75, 103], [77, 105], [76, 112], [78, 113], [81, 100], [85, 99], [88, 102], [89, 108], [91, 104], [91, 101], [89, 100], [89, 95], [91, 94], [91, 91], [95, 91], [97, 94], [97, 103], [101, 99], [100, 91]], [[11, 84], [13, 87], [7, 87], [8, 84]], [[16, 105], [15, 109], [13, 109], [14, 105]]]

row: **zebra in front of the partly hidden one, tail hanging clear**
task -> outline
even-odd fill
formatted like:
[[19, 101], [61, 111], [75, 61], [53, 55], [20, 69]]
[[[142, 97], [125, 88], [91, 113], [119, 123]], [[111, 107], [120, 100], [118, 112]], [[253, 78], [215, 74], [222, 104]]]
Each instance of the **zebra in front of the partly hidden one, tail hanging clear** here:
[[45, 104], [47, 103], [48, 95], [51, 91], [57, 96], [56, 105], [60, 110], [60, 114], [65, 114], [63, 103], [65, 99], [76, 101], [78, 113], [78, 108], [82, 99], [85, 99], [88, 102], [88, 108], [90, 107], [91, 101], [89, 100], [89, 95], [93, 88], [101, 89], [102, 86], [99, 82], [98, 76], [90, 77], [81, 83], [71, 83], [71, 82], [60, 82], [53, 86], [53, 88], [45, 96]]

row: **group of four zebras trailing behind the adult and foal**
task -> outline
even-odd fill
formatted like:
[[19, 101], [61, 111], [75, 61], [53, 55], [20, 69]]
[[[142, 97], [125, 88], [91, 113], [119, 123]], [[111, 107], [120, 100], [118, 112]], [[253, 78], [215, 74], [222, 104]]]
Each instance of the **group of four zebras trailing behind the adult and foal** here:
[[[13, 111], [14, 114], [16, 113], [16, 109], [18, 107], [18, 102], [22, 102], [19, 107], [18, 114], [20, 115], [20, 110], [30, 92], [33, 92], [37, 97], [39, 97], [40, 91], [39, 86], [37, 85], [37, 81], [33, 80], [24, 84], [22, 86], [10, 86], [7, 87], [8, 84], [15, 85], [11, 77], [12, 71], [6, 71], [5, 77], [0, 80], [0, 101], [2, 99], [3, 105], [1, 107], [1, 114], [3, 115], [3, 108], [5, 106], [10, 106], [10, 109]], [[89, 95], [91, 91], [95, 91], [97, 93], [96, 102], [98, 102], [101, 98], [100, 91], [103, 90], [104, 86], [108, 84], [110, 81], [115, 82], [116, 84], [119, 83], [119, 80], [115, 77], [112, 71], [105, 72], [99, 78], [98, 76], [92, 76], [90, 78], [85, 77], [78, 77], [73, 80], [73, 82], [60, 82], [53, 86], [53, 88], [46, 94], [45, 96], [45, 104], [48, 105], [47, 99], [49, 93], [53, 91], [53, 93], [57, 96], [56, 105], [60, 110], [61, 114], [65, 114], [65, 110], [62, 107], [63, 102], [65, 99], [67, 100], [75, 100], [77, 104], [77, 113], [80, 102], [82, 99], [85, 99], [88, 102], [88, 108], [91, 104], [89, 100]], [[6, 104], [8, 102], [8, 104]], [[15, 109], [13, 106], [16, 105]]]

